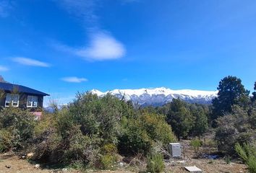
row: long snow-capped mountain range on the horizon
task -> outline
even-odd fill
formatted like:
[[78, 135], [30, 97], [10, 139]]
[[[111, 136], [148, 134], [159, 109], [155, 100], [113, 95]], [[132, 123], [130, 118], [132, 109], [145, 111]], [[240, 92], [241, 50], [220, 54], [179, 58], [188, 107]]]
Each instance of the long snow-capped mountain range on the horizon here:
[[155, 89], [114, 89], [108, 92], [101, 92], [97, 89], [91, 90], [93, 94], [102, 97], [108, 93], [125, 100], [131, 100], [142, 106], [159, 106], [171, 102], [172, 99], [183, 99], [190, 103], [210, 104], [212, 99], [217, 97], [218, 91], [200, 91], [191, 89], [173, 90], [165, 87]]

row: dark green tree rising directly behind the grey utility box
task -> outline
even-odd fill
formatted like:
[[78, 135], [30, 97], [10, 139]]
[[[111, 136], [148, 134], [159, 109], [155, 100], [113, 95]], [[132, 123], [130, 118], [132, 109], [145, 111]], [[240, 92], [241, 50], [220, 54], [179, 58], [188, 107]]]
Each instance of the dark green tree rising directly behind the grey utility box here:
[[167, 122], [178, 139], [187, 138], [194, 125], [194, 117], [185, 104], [181, 99], [173, 99], [167, 114]]

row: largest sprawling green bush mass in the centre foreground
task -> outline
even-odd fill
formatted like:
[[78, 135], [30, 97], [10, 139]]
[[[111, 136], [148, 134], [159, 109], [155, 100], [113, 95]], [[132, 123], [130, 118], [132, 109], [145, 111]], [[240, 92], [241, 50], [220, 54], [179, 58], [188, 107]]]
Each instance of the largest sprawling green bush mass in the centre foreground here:
[[109, 94], [86, 93], [37, 123], [32, 150], [38, 161], [113, 169], [119, 153], [146, 156], [158, 141], [176, 141], [163, 115], [136, 111]]

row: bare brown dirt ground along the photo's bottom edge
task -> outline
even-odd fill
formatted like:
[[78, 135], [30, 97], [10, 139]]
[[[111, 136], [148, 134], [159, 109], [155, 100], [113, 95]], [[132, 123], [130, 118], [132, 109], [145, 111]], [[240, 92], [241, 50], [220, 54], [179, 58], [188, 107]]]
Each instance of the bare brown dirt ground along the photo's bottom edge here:
[[[231, 162], [231, 164], [226, 164], [225, 161], [221, 159], [213, 160], [212, 162], [208, 159], [191, 159], [188, 161], [166, 161], [166, 171], [165, 172], [175, 172], [175, 173], [186, 173], [184, 169], [185, 166], [197, 166], [202, 169], [203, 172], [234, 172], [242, 173], [247, 172], [247, 167], [244, 164], [237, 164]], [[61, 173], [61, 172], [70, 172], [70, 173], [79, 173], [77, 170], [70, 169], [46, 169], [46, 168], [36, 168], [35, 164], [30, 164], [26, 159], [20, 159], [19, 156], [13, 154], [1, 154], [0, 155], [0, 173], [10, 172], [10, 173]], [[113, 173], [129, 173], [129, 172], [138, 172], [137, 169], [133, 167], [124, 167], [116, 169], [116, 171], [93, 171], [88, 170], [88, 172], [113, 172]]]

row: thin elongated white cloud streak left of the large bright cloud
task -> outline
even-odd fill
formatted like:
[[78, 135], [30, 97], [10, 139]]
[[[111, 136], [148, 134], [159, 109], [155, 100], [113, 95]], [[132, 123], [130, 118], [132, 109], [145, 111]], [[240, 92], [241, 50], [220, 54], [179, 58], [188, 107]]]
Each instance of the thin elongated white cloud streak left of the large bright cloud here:
[[25, 58], [25, 57], [15, 57], [15, 58], [12, 58], [12, 61], [14, 61], [16, 63], [20, 63], [25, 66], [40, 66], [40, 67], [49, 67], [50, 66], [50, 64], [48, 64], [48, 63], [30, 59], [30, 58]]

